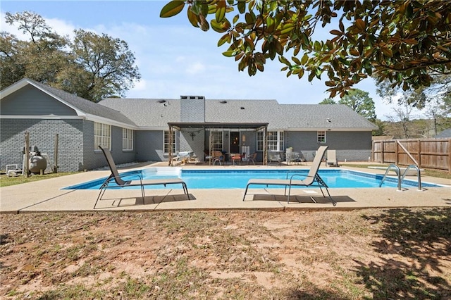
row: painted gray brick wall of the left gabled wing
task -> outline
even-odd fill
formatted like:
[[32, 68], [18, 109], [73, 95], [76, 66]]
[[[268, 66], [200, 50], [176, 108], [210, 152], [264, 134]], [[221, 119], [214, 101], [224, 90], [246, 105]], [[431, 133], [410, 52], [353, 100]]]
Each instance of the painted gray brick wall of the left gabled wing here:
[[[54, 165], [55, 135], [58, 134], [58, 171], [93, 170], [107, 165], [104, 154], [94, 150], [94, 122], [87, 120], [1, 119], [0, 169], [16, 163], [22, 168], [25, 132], [30, 132], [30, 146], [47, 154], [45, 173]], [[111, 128], [114, 161], [135, 161], [135, 151], [122, 151], [122, 127]]]

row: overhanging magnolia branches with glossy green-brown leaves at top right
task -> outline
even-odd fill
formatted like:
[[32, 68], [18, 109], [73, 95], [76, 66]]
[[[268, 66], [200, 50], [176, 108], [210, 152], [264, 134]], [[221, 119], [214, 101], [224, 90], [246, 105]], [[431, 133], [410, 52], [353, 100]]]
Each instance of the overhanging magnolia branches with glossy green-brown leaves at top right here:
[[[278, 56], [287, 76], [326, 74], [330, 98], [369, 76], [407, 90], [451, 73], [450, 1], [174, 0], [160, 16], [185, 7], [194, 27], [211, 27], [218, 46], [230, 44], [223, 55], [238, 70], [255, 75]], [[330, 38], [315, 39], [319, 24], [336, 26]]]

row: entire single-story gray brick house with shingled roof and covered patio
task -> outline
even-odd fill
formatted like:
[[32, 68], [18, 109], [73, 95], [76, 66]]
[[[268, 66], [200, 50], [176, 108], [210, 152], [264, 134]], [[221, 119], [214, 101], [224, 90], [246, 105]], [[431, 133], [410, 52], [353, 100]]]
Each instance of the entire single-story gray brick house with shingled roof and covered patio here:
[[[54, 156], [58, 170], [91, 170], [105, 165], [97, 145], [108, 146], [116, 163], [171, 161], [178, 151], [204, 160], [211, 149], [259, 154], [292, 147], [307, 161], [319, 145], [338, 159], [366, 161], [377, 127], [340, 104], [279, 104], [264, 99], [109, 98], [95, 104], [73, 94], [23, 79], [1, 91], [0, 168], [21, 163], [25, 132], [30, 144]], [[265, 148], [266, 141], [266, 148]]]

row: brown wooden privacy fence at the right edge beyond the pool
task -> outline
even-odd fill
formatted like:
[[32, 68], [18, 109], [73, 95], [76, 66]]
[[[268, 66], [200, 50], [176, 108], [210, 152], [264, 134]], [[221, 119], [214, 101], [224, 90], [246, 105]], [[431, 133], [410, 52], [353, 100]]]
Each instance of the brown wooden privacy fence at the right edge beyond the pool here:
[[[407, 150], [408, 153], [406, 153]], [[373, 141], [373, 161], [447, 170], [451, 173], [451, 139], [386, 139]], [[412, 160], [414, 158], [414, 160]]]

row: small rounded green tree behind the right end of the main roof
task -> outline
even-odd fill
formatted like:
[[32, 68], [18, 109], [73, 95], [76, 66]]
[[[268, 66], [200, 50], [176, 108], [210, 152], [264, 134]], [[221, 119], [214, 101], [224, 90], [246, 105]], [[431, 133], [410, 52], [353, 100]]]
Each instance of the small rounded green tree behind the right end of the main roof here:
[[369, 92], [361, 89], [352, 89], [347, 95], [338, 100], [338, 104], [345, 104], [359, 115], [363, 115], [371, 122], [376, 120], [376, 106], [373, 99], [369, 96]]

